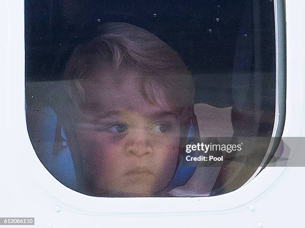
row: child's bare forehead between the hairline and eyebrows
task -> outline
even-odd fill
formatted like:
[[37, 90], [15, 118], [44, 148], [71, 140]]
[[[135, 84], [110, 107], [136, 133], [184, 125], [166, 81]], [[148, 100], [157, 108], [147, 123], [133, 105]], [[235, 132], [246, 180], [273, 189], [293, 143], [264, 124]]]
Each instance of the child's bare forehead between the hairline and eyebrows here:
[[102, 113], [127, 110], [145, 115], [158, 112], [176, 112], [166, 101], [165, 95], [160, 89], [154, 89], [154, 103], [145, 97], [139, 83], [141, 75], [136, 72], [123, 72], [118, 76], [120, 82], [114, 82], [113, 73], [109, 72], [103, 77], [95, 75], [81, 81], [85, 95], [85, 110]]

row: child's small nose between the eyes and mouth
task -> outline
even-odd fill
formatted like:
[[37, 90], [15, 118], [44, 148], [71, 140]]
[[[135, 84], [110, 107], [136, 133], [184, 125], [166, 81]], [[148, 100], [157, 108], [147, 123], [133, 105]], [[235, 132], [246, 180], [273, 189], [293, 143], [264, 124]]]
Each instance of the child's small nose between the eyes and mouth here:
[[148, 131], [145, 128], [130, 130], [126, 143], [127, 155], [143, 156], [152, 153], [152, 143]]

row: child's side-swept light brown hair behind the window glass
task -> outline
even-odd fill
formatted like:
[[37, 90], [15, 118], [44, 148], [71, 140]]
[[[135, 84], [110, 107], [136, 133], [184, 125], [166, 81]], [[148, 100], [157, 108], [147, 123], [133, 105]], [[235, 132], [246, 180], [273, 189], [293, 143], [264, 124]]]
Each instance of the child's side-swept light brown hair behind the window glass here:
[[[193, 107], [194, 85], [190, 72], [178, 53], [145, 29], [123, 22], [98, 27], [98, 36], [73, 51], [64, 70], [70, 83], [70, 96], [84, 96], [79, 80], [90, 77], [89, 69], [109, 65], [113, 70], [134, 70], [143, 75], [139, 81], [142, 96], [156, 102], [156, 90], [175, 109]], [[74, 93], [77, 93], [75, 95]]]

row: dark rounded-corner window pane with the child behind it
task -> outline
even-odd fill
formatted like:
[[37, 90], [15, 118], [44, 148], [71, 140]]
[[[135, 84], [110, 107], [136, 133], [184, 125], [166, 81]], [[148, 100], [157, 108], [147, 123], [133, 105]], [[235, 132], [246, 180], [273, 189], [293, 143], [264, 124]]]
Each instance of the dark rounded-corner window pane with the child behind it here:
[[234, 191], [276, 130], [275, 34], [273, 0], [26, 0], [33, 148], [90, 196]]

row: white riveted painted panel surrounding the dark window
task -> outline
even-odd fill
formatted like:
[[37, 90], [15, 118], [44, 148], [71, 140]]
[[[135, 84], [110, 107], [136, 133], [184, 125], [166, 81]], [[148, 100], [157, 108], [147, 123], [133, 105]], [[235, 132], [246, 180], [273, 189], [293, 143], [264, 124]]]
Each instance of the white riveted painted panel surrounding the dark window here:
[[[283, 136], [305, 136], [305, 1], [287, 0], [287, 115]], [[24, 111], [22, 0], [0, 7], [0, 217], [35, 227], [304, 228], [305, 167], [269, 167], [241, 189], [206, 198], [95, 198], [56, 181], [38, 160]], [[303, 150], [290, 145], [292, 150]], [[60, 206], [60, 212], [54, 208]], [[251, 210], [255, 207], [255, 211]], [[251, 208], [250, 208], [251, 207]]]

